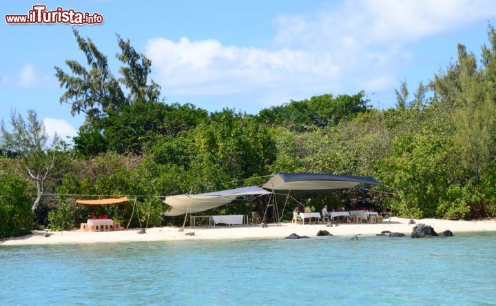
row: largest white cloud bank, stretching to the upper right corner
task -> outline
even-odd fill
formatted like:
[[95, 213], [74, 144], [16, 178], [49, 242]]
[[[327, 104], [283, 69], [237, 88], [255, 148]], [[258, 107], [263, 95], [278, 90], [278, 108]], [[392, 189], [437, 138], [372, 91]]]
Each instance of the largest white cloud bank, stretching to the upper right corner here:
[[156, 38], [145, 54], [165, 94], [245, 94], [275, 104], [276, 96], [391, 91], [413, 59], [406, 43], [493, 16], [493, 1], [350, 0], [276, 18], [266, 48]]

